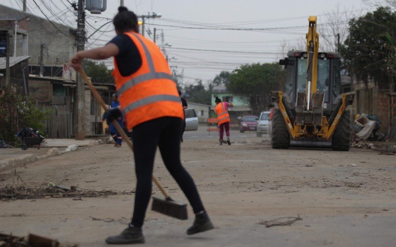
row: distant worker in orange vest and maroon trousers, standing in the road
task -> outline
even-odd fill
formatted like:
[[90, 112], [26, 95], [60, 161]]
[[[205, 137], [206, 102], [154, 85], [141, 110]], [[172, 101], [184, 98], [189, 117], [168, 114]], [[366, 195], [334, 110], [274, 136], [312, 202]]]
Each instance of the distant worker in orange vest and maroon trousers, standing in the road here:
[[221, 102], [221, 99], [216, 97], [214, 102], [217, 104], [217, 106], [214, 108], [214, 112], [217, 114], [217, 126], [219, 126], [219, 141], [220, 145], [223, 145], [223, 135], [224, 135], [224, 129], [226, 130], [226, 135], [227, 135], [227, 143], [228, 145], [231, 145], [230, 141], [230, 115], [228, 114], [228, 107], [233, 107], [234, 105], [231, 103], [231, 101], [227, 102]]

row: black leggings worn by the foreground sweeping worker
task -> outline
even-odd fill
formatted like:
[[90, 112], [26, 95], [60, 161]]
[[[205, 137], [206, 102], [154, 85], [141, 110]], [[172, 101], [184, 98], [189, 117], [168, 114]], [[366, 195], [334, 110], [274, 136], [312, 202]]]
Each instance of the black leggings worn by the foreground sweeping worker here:
[[164, 117], [133, 128], [133, 152], [137, 177], [132, 224], [142, 226], [151, 196], [151, 174], [157, 146], [162, 160], [186, 195], [195, 213], [204, 210], [193, 178], [180, 162], [180, 134], [183, 120]]

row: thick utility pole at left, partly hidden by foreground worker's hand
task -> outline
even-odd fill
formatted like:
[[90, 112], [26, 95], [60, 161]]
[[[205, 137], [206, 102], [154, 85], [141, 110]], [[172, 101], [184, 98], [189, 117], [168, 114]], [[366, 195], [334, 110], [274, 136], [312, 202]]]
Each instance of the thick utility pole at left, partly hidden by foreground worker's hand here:
[[[77, 52], [84, 50], [85, 46], [85, 0], [78, 0], [78, 14], [77, 14]], [[85, 103], [85, 86], [84, 80], [80, 73], [76, 75], [76, 108], [73, 112], [73, 117], [76, 120], [75, 139], [84, 140], [84, 103]]]

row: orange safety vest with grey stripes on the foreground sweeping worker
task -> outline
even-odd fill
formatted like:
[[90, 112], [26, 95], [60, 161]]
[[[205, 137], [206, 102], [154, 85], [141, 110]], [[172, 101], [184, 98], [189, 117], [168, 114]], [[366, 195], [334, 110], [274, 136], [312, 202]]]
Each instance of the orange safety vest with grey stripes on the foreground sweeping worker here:
[[123, 77], [114, 57], [113, 77], [128, 129], [161, 117], [184, 119], [180, 96], [158, 46], [138, 33], [125, 33], [135, 43], [142, 66]]

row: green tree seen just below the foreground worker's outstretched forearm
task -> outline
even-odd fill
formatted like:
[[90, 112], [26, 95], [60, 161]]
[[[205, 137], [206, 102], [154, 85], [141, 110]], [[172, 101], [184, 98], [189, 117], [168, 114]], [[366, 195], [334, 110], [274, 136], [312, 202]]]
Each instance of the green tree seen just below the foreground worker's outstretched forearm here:
[[114, 83], [111, 70], [107, 69], [104, 62], [87, 59], [84, 61], [84, 69], [93, 83]]

